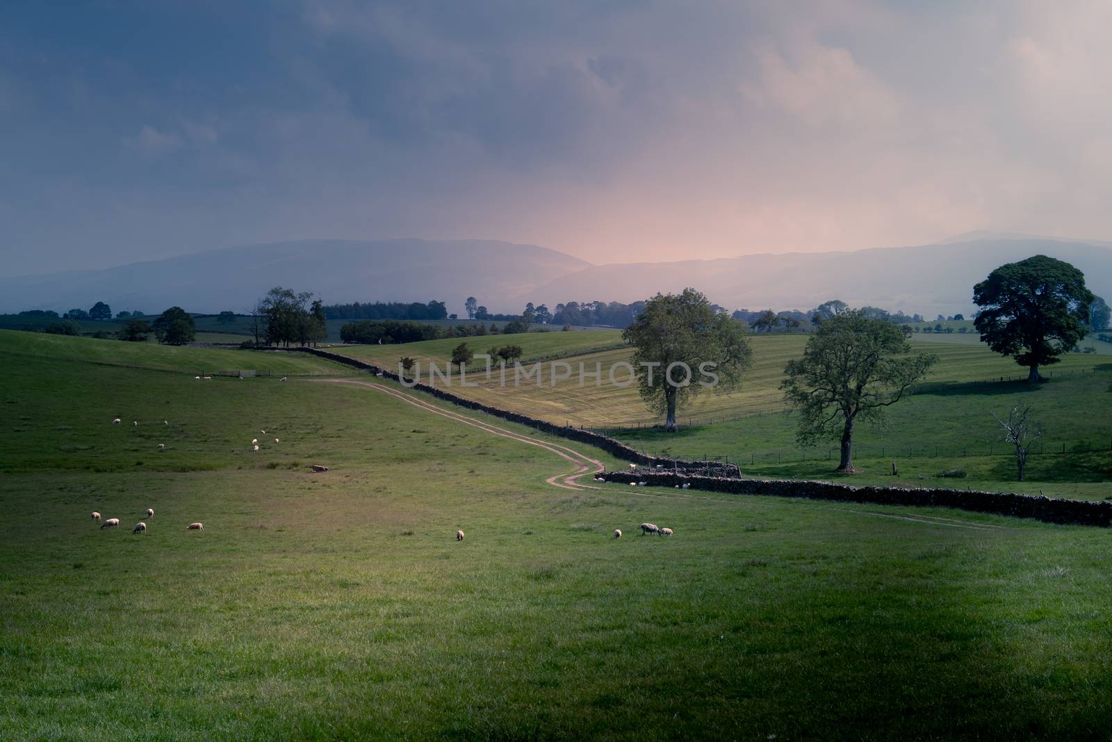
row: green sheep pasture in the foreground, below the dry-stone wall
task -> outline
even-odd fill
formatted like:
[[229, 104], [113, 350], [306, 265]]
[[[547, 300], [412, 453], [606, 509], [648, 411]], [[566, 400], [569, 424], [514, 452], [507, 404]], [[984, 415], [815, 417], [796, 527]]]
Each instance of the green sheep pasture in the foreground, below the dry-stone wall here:
[[557, 489], [370, 389], [93, 343], [4, 354], [4, 739], [1106, 734], [1105, 530]]

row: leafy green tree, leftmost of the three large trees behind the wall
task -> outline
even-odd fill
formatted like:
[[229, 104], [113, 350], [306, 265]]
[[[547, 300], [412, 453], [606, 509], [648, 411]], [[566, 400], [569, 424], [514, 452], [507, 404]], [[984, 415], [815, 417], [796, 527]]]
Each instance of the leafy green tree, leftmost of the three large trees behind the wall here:
[[[693, 288], [646, 301], [622, 339], [635, 348], [632, 360], [641, 397], [654, 414], [665, 415], [666, 431], [677, 429], [676, 410], [707, 386], [716, 393], [737, 388], [752, 363], [745, 327], [712, 310]], [[676, 368], [683, 370], [681, 378]], [[717, 384], [695, 383], [693, 377], [705, 374], [704, 368], [717, 375]]]

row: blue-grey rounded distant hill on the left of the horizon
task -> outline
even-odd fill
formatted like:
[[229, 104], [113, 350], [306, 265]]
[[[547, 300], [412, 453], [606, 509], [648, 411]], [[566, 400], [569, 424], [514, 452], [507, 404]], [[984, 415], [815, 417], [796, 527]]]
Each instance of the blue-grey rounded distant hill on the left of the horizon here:
[[520, 309], [506, 299], [589, 267], [536, 245], [497, 240], [299, 240], [103, 270], [0, 278], [0, 313], [87, 309], [96, 301], [117, 311], [157, 313], [173, 305], [190, 311], [244, 311], [272, 286], [311, 290], [329, 304], [439, 299], [459, 314], [464, 299], [474, 295], [496, 311]]

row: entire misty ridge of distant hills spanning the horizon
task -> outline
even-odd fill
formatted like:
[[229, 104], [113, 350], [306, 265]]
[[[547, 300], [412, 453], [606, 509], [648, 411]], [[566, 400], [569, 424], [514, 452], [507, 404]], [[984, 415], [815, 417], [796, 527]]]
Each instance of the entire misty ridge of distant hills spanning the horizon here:
[[[979, 238], [984, 235], [984, 238]], [[972, 239], [966, 239], [972, 237]], [[1004, 264], [1043, 254], [1073, 264], [1112, 296], [1112, 243], [994, 233], [914, 247], [784, 253], [595, 266], [557, 250], [499, 240], [296, 240], [135, 263], [102, 270], [0, 278], [0, 311], [88, 308], [245, 311], [272, 286], [326, 303], [428, 301], [463, 314], [475, 296], [494, 313], [526, 301], [632, 303], [692, 286], [729, 309], [808, 309], [841, 298], [920, 313], [969, 314], [973, 285]]]

